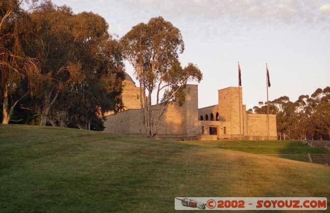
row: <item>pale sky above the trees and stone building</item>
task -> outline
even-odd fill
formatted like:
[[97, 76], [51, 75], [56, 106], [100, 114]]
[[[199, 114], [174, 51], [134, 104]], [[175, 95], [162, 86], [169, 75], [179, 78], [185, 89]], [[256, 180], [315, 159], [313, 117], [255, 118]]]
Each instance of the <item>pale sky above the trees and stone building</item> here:
[[[269, 100], [295, 101], [330, 86], [330, 0], [53, 0], [74, 13], [91, 11], [105, 18], [120, 39], [131, 27], [162, 16], [180, 29], [183, 66], [203, 72], [199, 107], [217, 104], [217, 90], [238, 85], [241, 67], [246, 108]], [[133, 68], [126, 63], [126, 72]], [[135, 79], [133, 77], [133, 79]]]

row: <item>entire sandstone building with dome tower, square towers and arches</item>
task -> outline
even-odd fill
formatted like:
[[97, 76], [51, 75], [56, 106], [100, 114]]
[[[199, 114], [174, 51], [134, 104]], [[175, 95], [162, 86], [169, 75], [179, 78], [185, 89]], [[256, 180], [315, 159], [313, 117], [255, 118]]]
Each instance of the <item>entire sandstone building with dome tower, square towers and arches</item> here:
[[[219, 89], [218, 103], [198, 108], [198, 85], [186, 85], [185, 103], [167, 108], [158, 125], [157, 137], [167, 139], [277, 140], [276, 115], [246, 113], [242, 88]], [[105, 132], [145, 135], [140, 88], [127, 75], [122, 93], [125, 110], [106, 116]], [[155, 107], [155, 106], [153, 106]]]

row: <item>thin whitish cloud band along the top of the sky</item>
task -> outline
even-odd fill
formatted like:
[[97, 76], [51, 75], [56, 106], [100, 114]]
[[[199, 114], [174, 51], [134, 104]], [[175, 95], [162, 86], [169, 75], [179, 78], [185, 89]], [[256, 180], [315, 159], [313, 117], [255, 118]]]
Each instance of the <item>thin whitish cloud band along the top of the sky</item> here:
[[[324, 0], [131, 0], [130, 5], [141, 10], [158, 10], [178, 18], [238, 19], [269, 23], [311, 22], [324, 20], [322, 13], [330, 13], [330, 4], [321, 8]], [[324, 3], [323, 3], [324, 4]], [[318, 12], [318, 9], [322, 12]]]

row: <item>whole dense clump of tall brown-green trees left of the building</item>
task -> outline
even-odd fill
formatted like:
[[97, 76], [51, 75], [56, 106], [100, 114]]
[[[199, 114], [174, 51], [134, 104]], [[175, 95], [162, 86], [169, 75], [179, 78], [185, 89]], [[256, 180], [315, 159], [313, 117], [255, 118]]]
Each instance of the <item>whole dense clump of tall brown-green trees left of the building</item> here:
[[0, 17], [2, 123], [102, 130], [104, 112], [122, 108], [124, 78], [104, 18], [15, 0], [1, 0]]

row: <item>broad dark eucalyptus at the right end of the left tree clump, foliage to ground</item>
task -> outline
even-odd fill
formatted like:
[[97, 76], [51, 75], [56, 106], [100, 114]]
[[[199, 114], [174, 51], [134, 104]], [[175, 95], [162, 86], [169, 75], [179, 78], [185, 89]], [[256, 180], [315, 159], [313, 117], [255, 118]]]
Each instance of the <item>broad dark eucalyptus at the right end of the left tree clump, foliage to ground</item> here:
[[121, 104], [123, 56], [118, 41], [108, 34], [104, 18], [82, 12], [72, 17], [72, 54], [79, 60], [81, 80], [64, 86], [58, 103], [49, 113], [52, 124], [63, 123], [91, 129], [91, 121], [102, 123], [104, 113]]

